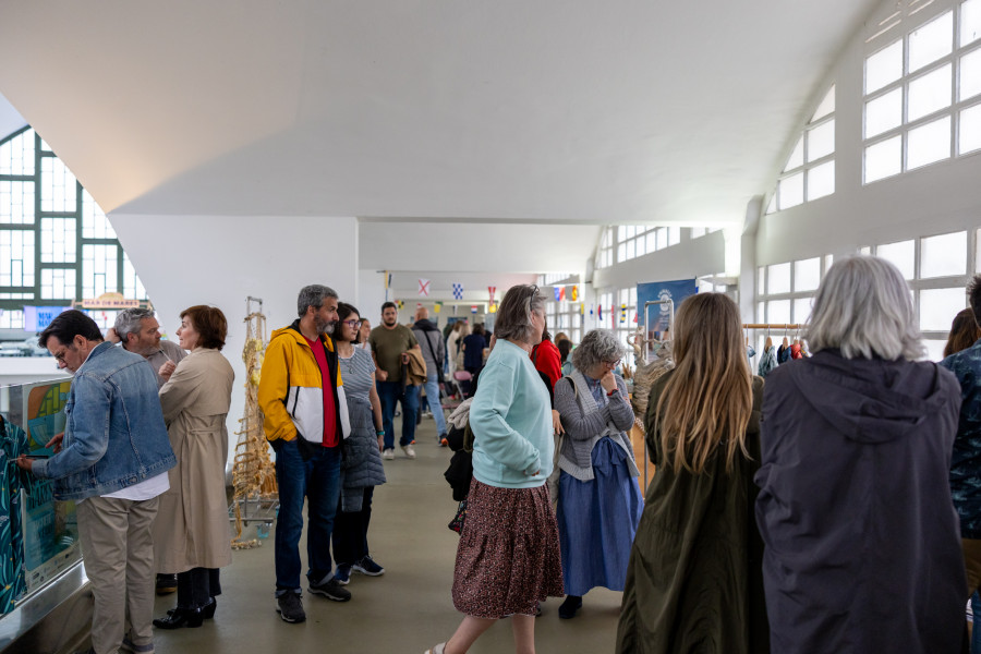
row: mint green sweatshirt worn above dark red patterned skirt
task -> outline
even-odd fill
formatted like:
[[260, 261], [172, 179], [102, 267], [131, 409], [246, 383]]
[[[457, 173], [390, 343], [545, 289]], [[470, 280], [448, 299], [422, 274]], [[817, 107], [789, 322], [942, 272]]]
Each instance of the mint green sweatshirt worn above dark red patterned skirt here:
[[470, 407], [473, 476], [488, 486], [534, 488], [553, 469], [548, 389], [528, 352], [498, 340]]

